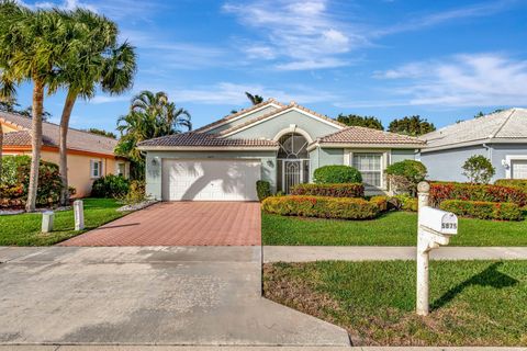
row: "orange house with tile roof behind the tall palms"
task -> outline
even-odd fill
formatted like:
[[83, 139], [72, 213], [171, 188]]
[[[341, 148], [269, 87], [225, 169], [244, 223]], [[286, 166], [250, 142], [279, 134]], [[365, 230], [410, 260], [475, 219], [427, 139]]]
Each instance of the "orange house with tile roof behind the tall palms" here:
[[[31, 118], [0, 112], [3, 155], [31, 155]], [[58, 165], [58, 125], [42, 125], [42, 159]], [[93, 180], [106, 174], [128, 177], [130, 162], [113, 154], [117, 140], [70, 128], [68, 132], [68, 183], [76, 197], [88, 196]]]

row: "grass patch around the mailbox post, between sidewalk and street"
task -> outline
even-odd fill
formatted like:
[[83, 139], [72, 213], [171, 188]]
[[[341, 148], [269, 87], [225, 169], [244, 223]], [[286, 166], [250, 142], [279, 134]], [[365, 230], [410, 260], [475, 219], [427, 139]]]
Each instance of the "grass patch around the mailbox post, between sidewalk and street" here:
[[273, 263], [268, 298], [337, 324], [357, 344], [527, 346], [527, 261], [433, 261], [415, 315], [415, 262]]

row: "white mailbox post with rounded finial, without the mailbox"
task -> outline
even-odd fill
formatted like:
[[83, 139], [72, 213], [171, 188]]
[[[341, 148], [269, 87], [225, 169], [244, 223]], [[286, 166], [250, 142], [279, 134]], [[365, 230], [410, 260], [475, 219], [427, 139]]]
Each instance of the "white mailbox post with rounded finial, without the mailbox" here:
[[424, 238], [424, 230], [421, 228], [421, 210], [428, 206], [430, 185], [427, 182], [421, 182], [417, 185], [417, 315], [427, 316], [428, 307], [428, 261], [429, 250], [428, 240]]

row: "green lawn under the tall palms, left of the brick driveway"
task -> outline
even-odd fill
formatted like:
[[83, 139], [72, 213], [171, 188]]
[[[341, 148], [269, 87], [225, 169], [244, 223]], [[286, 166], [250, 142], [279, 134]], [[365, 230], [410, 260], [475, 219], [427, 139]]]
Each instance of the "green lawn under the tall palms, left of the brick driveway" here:
[[[121, 205], [112, 199], [85, 199], [83, 202], [86, 230], [126, 214], [116, 211]], [[47, 246], [86, 231], [74, 230], [72, 210], [55, 213], [55, 229], [49, 234], [41, 233], [41, 223], [40, 213], [0, 216], [0, 246]]]

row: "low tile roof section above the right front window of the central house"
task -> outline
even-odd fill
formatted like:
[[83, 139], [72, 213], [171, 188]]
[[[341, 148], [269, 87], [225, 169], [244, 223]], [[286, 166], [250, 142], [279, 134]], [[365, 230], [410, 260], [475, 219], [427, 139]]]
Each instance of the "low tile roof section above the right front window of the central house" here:
[[402, 144], [423, 145], [423, 140], [406, 135], [383, 132], [367, 127], [351, 126], [346, 129], [326, 135], [318, 139], [318, 144]]

